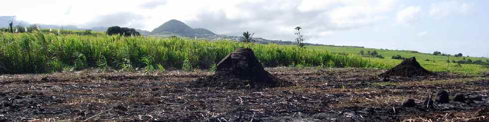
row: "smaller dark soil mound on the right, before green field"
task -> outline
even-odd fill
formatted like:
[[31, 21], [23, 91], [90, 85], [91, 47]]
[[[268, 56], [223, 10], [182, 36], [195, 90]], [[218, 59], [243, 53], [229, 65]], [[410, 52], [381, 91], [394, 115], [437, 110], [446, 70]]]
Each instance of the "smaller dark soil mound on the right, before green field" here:
[[421, 67], [421, 65], [416, 61], [415, 57], [404, 59], [401, 64], [393, 67], [385, 73], [380, 74], [383, 77], [389, 76], [427, 76], [433, 75], [432, 72]]

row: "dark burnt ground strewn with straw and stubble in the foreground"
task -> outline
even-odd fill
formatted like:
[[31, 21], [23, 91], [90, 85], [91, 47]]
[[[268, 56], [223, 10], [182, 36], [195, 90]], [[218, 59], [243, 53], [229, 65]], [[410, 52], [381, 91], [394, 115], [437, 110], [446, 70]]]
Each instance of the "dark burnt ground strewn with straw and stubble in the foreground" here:
[[[205, 71], [70, 73], [0, 76], [1, 121], [210, 122], [488, 122], [489, 78], [437, 73], [426, 77], [378, 75], [385, 70], [265, 68], [292, 87], [228, 90], [191, 88]], [[388, 80], [383, 81], [383, 80]], [[467, 102], [422, 106], [438, 90]], [[412, 98], [417, 106], [401, 108]], [[435, 99], [435, 97], [433, 98]], [[479, 114], [478, 114], [479, 113]]]

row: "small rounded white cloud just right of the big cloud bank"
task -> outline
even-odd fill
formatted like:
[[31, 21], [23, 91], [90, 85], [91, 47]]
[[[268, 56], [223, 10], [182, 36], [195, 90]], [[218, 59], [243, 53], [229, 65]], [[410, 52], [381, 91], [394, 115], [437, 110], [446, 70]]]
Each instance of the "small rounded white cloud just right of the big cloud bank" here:
[[409, 6], [399, 11], [396, 16], [398, 23], [411, 23], [418, 19], [420, 16], [421, 8], [415, 6]]

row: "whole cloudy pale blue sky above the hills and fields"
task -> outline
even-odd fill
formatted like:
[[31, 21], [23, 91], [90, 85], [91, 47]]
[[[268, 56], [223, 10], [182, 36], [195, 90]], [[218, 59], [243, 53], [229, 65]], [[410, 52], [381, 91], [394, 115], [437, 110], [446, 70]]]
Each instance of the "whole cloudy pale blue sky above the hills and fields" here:
[[[0, 16], [29, 23], [126, 26], [170, 19], [218, 34], [489, 56], [489, 0], [7, 0]], [[7, 5], [10, 4], [10, 5]]]

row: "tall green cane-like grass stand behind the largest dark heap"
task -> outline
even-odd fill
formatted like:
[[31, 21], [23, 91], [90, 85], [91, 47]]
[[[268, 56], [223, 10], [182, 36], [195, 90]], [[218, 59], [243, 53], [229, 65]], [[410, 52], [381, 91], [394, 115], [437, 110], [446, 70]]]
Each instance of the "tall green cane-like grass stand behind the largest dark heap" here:
[[251, 48], [265, 67], [372, 67], [355, 55], [233, 41], [54, 33], [0, 33], [0, 73], [45, 73], [72, 68], [165, 67], [208, 69], [236, 48]]

